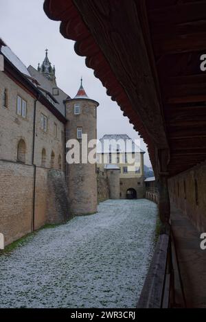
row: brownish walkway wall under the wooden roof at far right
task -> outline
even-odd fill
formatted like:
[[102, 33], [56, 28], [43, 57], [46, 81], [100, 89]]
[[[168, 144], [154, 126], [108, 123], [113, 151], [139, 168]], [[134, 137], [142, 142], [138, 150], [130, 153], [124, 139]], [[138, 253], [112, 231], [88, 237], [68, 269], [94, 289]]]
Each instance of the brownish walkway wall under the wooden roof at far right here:
[[206, 231], [206, 163], [169, 179], [170, 200], [199, 231]]

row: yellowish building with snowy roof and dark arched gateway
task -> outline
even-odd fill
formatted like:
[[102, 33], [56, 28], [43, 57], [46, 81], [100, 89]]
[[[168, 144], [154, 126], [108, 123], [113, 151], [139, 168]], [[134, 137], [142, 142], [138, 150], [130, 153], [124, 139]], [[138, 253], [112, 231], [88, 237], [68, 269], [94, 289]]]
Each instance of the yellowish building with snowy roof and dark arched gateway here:
[[108, 179], [110, 198], [117, 198], [117, 194], [120, 199], [144, 198], [144, 153], [126, 134], [100, 139], [98, 177]]

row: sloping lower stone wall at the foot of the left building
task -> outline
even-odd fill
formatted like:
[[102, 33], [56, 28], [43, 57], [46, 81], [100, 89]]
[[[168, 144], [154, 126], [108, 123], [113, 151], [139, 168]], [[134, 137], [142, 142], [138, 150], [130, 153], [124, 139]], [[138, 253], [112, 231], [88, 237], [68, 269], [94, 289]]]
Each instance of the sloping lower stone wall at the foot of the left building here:
[[36, 167], [34, 206], [34, 166], [0, 161], [0, 233], [5, 245], [47, 223], [69, 219], [65, 174]]

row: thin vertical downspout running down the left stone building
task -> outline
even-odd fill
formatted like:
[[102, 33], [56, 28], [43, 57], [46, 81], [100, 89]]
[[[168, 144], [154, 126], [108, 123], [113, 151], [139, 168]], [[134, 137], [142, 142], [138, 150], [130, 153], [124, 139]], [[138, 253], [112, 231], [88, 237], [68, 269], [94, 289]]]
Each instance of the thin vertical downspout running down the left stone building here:
[[34, 118], [33, 118], [33, 141], [32, 141], [32, 165], [34, 166], [34, 183], [33, 183], [33, 205], [32, 205], [32, 231], [35, 230], [35, 198], [36, 198], [36, 165], [34, 164], [34, 148], [36, 137], [36, 102], [39, 96], [34, 100]]

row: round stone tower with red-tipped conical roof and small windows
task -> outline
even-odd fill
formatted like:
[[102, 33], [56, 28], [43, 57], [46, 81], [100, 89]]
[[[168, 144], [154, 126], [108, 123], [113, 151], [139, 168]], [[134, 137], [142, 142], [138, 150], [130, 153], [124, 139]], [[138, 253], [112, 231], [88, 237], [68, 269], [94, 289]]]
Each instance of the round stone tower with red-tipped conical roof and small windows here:
[[[71, 212], [75, 215], [94, 214], [97, 211], [98, 192], [96, 163], [89, 163], [87, 157], [92, 147], [85, 141], [97, 139], [97, 107], [99, 103], [91, 100], [82, 86], [76, 97], [65, 100], [67, 130], [66, 139], [75, 139], [80, 146], [80, 163], [67, 164], [67, 182]], [[82, 156], [82, 151], [85, 151]], [[86, 159], [85, 159], [86, 156]]]

